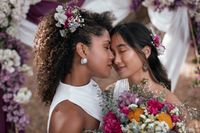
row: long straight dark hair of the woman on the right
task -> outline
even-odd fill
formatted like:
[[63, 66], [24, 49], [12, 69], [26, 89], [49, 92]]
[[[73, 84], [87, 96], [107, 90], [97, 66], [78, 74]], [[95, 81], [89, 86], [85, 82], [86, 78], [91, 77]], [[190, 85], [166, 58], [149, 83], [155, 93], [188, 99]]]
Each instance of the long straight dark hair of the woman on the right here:
[[[143, 24], [131, 22], [126, 24], [119, 24], [111, 31], [111, 36], [119, 34], [124, 41], [131, 46], [139, 55], [139, 57], [147, 63], [152, 79], [157, 83], [163, 83], [167, 89], [171, 88], [171, 81], [168, 79], [166, 69], [161, 64], [158, 58], [158, 52], [153, 45], [152, 32], [148, 30]], [[142, 48], [149, 46], [151, 54], [146, 59]]]

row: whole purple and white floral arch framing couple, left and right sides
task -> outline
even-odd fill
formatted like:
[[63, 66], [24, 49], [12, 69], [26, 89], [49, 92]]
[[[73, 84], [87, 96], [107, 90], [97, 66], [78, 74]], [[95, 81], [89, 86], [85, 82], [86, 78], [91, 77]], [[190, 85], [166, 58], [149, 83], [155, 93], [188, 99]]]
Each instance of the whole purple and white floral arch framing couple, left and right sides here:
[[[32, 75], [32, 69], [26, 64], [28, 54], [24, 44], [16, 39], [21, 20], [26, 18], [30, 5], [41, 0], [1, 0], [0, 6], [0, 92], [3, 92], [3, 106], [6, 121], [14, 128], [10, 131], [24, 131], [29, 123], [23, 104], [29, 102], [31, 91], [24, 86], [27, 76]], [[155, 11], [164, 8], [175, 10], [186, 6], [192, 23], [193, 45], [196, 48], [197, 77], [195, 86], [200, 85], [200, 2], [199, 0], [132, 0], [131, 8], [137, 10], [141, 5], [151, 6]], [[0, 121], [1, 122], [1, 121]], [[11, 126], [12, 127], [12, 126]]]

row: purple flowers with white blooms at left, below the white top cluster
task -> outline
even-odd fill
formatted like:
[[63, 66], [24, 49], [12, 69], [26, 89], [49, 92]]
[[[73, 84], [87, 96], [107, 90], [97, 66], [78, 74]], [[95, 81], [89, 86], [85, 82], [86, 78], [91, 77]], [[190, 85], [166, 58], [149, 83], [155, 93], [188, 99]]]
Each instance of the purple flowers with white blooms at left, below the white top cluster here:
[[[19, 40], [5, 32], [0, 32], [0, 89], [3, 91], [3, 111], [6, 121], [15, 125], [18, 131], [24, 130], [29, 123], [28, 116], [23, 109], [24, 95], [19, 96], [27, 74], [31, 75], [31, 68], [25, 64], [28, 53]], [[28, 93], [27, 93], [28, 92]], [[24, 94], [30, 91], [24, 91]], [[22, 94], [22, 93], [21, 93]]]

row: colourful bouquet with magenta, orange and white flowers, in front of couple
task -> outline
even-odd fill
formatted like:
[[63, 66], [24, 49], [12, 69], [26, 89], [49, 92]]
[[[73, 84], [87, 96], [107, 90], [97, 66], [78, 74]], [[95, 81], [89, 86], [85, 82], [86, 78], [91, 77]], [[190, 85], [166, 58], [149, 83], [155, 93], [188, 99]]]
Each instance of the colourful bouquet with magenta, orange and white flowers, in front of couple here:
[[[116, 101], [105, 96], [102, 131], [105, 133], [185, 133], [179, 108], [151, 93], [141, 95], [140, 85], [121, 93]], [[140, 92], [138, 91], [140, 90]], [[144, 93], [143, 93], [144, 94]]]

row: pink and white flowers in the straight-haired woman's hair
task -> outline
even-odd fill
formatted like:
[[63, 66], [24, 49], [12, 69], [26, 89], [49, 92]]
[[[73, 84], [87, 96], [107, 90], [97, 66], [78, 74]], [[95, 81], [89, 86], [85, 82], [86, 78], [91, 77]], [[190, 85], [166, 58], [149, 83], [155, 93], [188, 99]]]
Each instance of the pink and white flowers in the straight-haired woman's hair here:
[[159, 37], [157, 34], [155, 34], [155, 35], [150, 34], [150, 35], [151, 35], [151, 37], [152, 37], [152, 39], [153, 39], [153, 41], [152, 41], [151, 43], [156, 47], [156, 49], [157, 49], [157, 51], [158, 51], [158, 55], [163, 55], [166, 48], [165, 48], [165, 46], [161, 43], [160, 37]]

